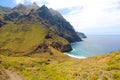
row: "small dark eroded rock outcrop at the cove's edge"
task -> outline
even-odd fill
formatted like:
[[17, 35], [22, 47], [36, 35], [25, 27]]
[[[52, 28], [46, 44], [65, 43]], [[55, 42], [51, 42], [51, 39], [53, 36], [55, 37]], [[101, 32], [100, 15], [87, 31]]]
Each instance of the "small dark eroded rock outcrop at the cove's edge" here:
[[51, 46], [61, 52], [67, 52], [72, 50], [70, 44], [63, 45], [61, 42], [53, 42]]

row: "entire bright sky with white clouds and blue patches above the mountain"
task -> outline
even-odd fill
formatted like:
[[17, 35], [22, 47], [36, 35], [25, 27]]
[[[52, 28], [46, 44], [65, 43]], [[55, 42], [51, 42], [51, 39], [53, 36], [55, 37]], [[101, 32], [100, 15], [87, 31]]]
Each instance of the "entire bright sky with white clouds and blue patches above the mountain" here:
[[76, 31], [120, 35], [120, 0], [0, 0], [0, 5], [15, 7], [34, 2], [58, 10]]

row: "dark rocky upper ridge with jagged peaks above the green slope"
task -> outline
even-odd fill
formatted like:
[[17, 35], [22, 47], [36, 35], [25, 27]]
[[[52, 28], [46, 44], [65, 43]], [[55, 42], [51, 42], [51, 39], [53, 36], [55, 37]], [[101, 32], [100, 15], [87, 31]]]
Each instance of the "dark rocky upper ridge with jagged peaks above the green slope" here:
[[4, 20], [17, 22], [24, 19], [24, 17], [27, 17], [47, 26], [52, 32], [63, 37], [70, 43], [81, 41], [72, 25], [66, 21], [59, 12], [53, 9], [48, 9], [45, 5], [38, 8], [34, 3], [29, 6], [24, 6], [22, 4], [16, 6], [4, 16]]

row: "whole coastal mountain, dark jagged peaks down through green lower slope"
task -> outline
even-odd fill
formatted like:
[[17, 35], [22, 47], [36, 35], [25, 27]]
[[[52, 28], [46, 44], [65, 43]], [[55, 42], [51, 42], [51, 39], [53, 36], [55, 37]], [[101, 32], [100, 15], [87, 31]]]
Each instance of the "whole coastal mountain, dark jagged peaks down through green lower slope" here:
[[56, 10], [35, 3], [19, 4], [0, 20], [0, 52], [7, 55], [72, 50], [70, 43], [81, 41], [73, 26]]

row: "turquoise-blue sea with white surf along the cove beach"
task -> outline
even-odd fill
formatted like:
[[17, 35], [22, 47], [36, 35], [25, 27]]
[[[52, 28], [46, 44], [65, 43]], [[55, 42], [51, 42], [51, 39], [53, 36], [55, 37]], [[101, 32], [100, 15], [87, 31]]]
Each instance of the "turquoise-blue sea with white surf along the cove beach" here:
[[86, 58], [120, 50], [120, 36], [87, 36], [81, 42], [72, 43], [72, 51], [65, 54]]

